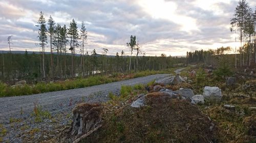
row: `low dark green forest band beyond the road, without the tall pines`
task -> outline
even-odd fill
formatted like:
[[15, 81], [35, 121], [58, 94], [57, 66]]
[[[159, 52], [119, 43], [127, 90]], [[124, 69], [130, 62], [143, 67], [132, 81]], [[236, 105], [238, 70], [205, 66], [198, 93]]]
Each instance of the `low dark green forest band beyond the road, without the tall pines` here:
[[[51, 56], [53, 58], [53, 71], [51, 71]], [[72, 75], [72, 58], [74, 58], [74, 73]], [[0, 54], [0, 74], [2, 81], [17, 81], [25, 79], [33, 82], [44, 78], [42, 75], [42, 54], [19, 54], [2, 53]], [[95, 74], [111, 74], [115, 72], [129, 72], [130, 56], [99, 55], [94, 50], [91, 55], [83, 56], [45, 54], [46, 78], [66, 79], [71, 77], [85, 77]], [[186, 63], [186, 58], [175, 58], [171, 56], [139, 56], [138, 65], [136, 56], [132, 56], [131, 72], [143, 70], [164, 70], [173, 67], [177, 63]], [[83, 66], [83, 67], [81, 67]]]

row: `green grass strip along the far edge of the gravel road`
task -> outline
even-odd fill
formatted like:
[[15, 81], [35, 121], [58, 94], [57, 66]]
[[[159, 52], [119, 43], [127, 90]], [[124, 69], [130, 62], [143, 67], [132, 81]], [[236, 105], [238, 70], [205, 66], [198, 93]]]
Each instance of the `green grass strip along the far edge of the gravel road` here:
[[111, 76], [96, 75], [96, 76], [90, 76], [88, 78], [76, 78], [74, 80], [69, 80], [69, 81], [58, 81], [54, 83], [39, 82], [35, 85], [25, 84], [23, 86], [17, 86], [17, 87], [11, 87], [5, 83], [0, 82], [0, 97], [31, 95], [31, 94], [91, 87], [93, 85], [121, 81], [125, 79], [137, 78], [137, 77], [148, 76], [153, 74], [173, 73], [174, 70], [175, 70], [174, 68], [167, 69], [165, 71], [146, 70], [146, 71], [141, 71], [136, 73], [131, 72], [131, 74], [128, 74], [126, 76], [122, 76], [122, 74], [120, 73], [113, 73], [113, 75]]

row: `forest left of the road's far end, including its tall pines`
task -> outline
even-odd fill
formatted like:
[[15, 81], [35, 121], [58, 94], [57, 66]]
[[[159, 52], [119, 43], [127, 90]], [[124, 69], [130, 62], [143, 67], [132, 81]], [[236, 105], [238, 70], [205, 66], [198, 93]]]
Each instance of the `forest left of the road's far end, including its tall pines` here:
[[[145, 56], [142, 53], [136, 36], [131, 36], [126, 43], [131, 53], [123, 50], [116, 55], [107, 55], [109, 50], [87, 51], [87, 28], [82, 21], [81, 28], [74, 19], [70, 25], [61, 26], [55, 23], [52, 16], [45, 19], [40, 12], [38, 18], [38, 40], [40, 54], [2, 53], [0, 55], [0, 75], [2, 81], [17, 81], [26, 79], [29, 82], [39, 79], [67, 79], [85, 77], [95, 74], [112, 74], [114, 72], [128, 73], [143, 70], [164, 70], [177, 63], [184, 63], [185, 58], [171, 56]], [[46, 45], [50, 44], [50, 54], [46, 54]], [[68, 50], [71, 51], [68, 52]], [[136, 56], [133, 54], [135, 53]], [[142, 54], [142, 56], [139, 56]]]

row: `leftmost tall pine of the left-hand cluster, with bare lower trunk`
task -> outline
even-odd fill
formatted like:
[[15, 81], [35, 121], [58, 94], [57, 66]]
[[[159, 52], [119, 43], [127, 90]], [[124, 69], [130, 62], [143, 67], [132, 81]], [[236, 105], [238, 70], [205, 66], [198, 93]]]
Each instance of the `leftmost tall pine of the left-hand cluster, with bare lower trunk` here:
[[45, 72], [45, 45], [47, 44], [47, 29], [46, 29], [46, 19], [44, 17], [44, 13], [40, 12], [39, 19], [37, 21], [39, 25], [39, 31], [38, 31], [38, 38], [40, 41], [40, 45], [42, 48], [42, 76], [43, 78], [46, 78], [46, 72]]

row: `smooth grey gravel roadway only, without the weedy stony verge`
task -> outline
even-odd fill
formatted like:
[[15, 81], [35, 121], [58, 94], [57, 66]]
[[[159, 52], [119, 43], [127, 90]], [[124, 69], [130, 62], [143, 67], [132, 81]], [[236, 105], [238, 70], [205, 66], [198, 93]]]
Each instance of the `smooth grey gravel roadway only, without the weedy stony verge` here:
[[[34, 104], [41, 105], [46, 110], [58, 112], [67, 108], [67, 104], [75, 104], [77, 101], [76, 99], [88, 97], [97, 92], [119, 90], [121, 85], [134, 85], [138, 83], [145, 84], [154, 79], [164, 78], [166, 76], [168, 76], [168, 74], [156, 74], [124, 81], [95, 85], [87, 88], [0, 98], [0, 123], [8, 123], [10, 118], [18, 118], [20, 116], [20, 112], [23, 112], [24, 115], [28, 115], [33, 111]], [[104, 97], [106, 97], [107, 94], [108, 93], [105, 93]], [[97, 98], [97, 95], [95, 98]]]

